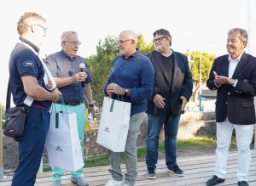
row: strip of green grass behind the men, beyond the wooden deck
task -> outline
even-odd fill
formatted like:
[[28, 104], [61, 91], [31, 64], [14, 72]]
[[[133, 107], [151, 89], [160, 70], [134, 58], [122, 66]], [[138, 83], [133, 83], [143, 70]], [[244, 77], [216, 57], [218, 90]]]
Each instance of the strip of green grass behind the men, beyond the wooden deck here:
[[[215, 138], [189, 138], [188, 140], [177, 140], [177, 156], [191, 156], [191, 155], [203, 155], [207, 153], [214, 153], [216, 148]], [[232, 140], [230, 149], [236, 149], [236, 142]], [[145, 161], [147, 149], [146, 147], [137, 149], [138, 161]], [[165, 158], [164, 144], [159, 145], [159, 159]], [[120, 153], [121, 163], [124, 161], [124, 153]], [[101, 155], [96, 157], [86, 158], [84, 161], [84, 167], [92, 166], [109, 166], [108, 155]], [[49, 166], [44, 167], [44, 172], [51, 171]]]

